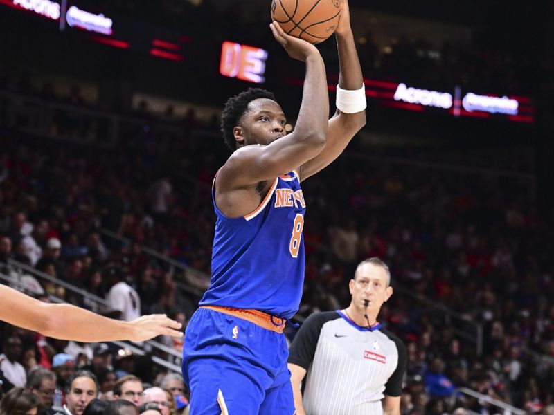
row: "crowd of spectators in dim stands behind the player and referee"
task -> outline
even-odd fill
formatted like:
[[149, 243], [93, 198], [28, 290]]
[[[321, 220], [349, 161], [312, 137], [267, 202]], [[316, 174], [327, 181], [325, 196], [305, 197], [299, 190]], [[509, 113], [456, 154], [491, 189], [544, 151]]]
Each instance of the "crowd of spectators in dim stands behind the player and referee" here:
[[[186, 322], [197, 297], [178, 289], [175, 274], [140, 245], [209, 274], [210, 187], [225, 157], [217, 151], [221, 143], [201, 155], [183, 142], [148, 134], [113, 149], [60, 145], [17, 131], [2, 131], [1, 140], [2, 273], [13, 271], [15, 259], [105, 297], [109, 306], [25, 275], [26, 289], [42, 299], [52, 295], [127, 318], [133, 315], [128, 312], [163, 312]], [[357, 262], [380, 257], [391, 267], [396, 290], [380, 320], [408, 350], [403, 414], [443, 414], [454, 407], [494, 413], [481, 400], [456, 395], [458, 387], [550, 414], [554, 267], [548, 247], [554, 234], [551, 218], [535, 211], [529, 185], [526, 179], [343, 156], [303, 183], [307, 266], [300, 314], [346, 306]], [[129, 309], [116, 299], [121, 291], [134, 299]], [[59, 392], [71, 393], [77, 368], [96, 375], [101, 398], [118, 396], [114, 380], [129, 374], [146, 387], [161, 385], [148, 356], [6, 325], [0, 337], [5, 389], [11, 382], [39, 399], [48, 391], [63, 403], [67, 397]], [[180, 351], [181, 344], [170, 346]], [[36, 367], [53, 370], [57, 386], [30, 385]]]

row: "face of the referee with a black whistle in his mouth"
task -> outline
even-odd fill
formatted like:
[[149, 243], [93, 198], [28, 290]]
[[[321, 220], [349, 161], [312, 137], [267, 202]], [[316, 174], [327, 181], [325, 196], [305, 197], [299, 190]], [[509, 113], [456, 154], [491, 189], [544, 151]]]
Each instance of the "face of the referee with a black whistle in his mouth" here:
[[352, 304], [356, 308], [365, 308], [364, 301], [369, 302], [368, 311], [379, 313], [386, 300], [393, 295], [393, 288], [386, 286], [388, 275], [382, 266], [364, 264], [359, 268], [355, 279], [350, 280]]

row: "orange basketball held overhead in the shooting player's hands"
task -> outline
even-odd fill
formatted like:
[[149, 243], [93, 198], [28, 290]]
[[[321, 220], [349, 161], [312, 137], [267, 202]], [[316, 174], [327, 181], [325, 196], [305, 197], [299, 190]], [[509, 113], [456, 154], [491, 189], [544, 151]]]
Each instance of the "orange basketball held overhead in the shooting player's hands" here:
[[319, 44], [333, 34], [340, 15], [340, 0], [271, 1], [271, 19], [288, 35], [312, 44]]

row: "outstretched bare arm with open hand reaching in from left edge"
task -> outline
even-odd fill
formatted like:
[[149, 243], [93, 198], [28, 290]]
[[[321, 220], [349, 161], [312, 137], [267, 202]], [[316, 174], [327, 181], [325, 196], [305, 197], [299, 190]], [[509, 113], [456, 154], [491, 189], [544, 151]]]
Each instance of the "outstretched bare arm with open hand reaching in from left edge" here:
[[0, 320], [51, 338], [77, 342], [132, 340], [157, 335], [183, 336], [181, 324], [165, 315], [145, 315], [131, 322], [113, 320], [69, 304], [49, 304], [0, 284]]

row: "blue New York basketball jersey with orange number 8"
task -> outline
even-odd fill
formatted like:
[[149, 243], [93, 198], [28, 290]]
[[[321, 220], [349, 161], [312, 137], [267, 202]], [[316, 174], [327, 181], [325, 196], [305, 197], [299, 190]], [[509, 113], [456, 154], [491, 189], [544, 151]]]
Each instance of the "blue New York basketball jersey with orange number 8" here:
[[296, 172], [275, 179], [256, 210], [228, 218], [215, 205], [212, 276], [201, 306], [263, 311], [290, 318], [304, 282], [306, 205]]

